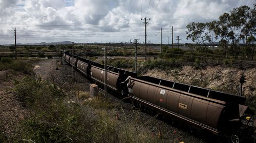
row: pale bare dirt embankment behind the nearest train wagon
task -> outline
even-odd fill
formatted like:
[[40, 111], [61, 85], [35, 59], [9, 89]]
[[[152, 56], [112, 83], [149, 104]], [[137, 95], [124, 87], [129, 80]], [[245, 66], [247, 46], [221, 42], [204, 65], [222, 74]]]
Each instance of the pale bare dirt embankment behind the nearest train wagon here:
[[191, 66], [183, 66], [181, 69], [170, 71], [154, 69], [144, 73], [147, 76], [193, 84], [231, 94], [240, 94], [242, 74], [246, 78], [246, 83], [243, 84], [243, 95], [246, 97], [256, 96], [256, 68], [242, 70], [223, 66], [208, 66], [205, 69], [195, 69]]

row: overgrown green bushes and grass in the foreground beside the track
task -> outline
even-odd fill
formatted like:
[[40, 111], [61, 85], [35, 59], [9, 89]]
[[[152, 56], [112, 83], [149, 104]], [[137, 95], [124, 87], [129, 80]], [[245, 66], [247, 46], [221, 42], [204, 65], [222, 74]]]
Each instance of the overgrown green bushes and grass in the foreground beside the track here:
[[[112, 112], [116, 104], [103, 96], [83, 105], [67, 102], [55, 83], [28, 77], [15, 83], [15, 93], [32, 115], [19, 123], [12, 142], [156, 142], [138, 128], [136, 119], [116, 120]], [[80, 92], [79, 98], [85, 100], [88, 95]]]

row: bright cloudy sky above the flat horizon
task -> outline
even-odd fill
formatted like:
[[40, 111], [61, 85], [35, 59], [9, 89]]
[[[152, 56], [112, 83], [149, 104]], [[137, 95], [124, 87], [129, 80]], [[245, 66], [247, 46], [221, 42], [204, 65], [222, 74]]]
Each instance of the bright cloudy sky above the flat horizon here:
[[[0, 44], [72, 41], [193, 43], [186, 39], [190, 22], [218, 20], [224, 12], [255, 0], [0, 0]], [[168, 38], [169, 37], [169, 38]]]

